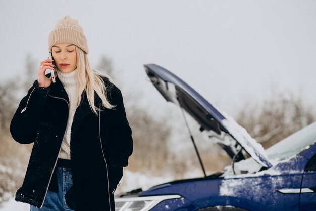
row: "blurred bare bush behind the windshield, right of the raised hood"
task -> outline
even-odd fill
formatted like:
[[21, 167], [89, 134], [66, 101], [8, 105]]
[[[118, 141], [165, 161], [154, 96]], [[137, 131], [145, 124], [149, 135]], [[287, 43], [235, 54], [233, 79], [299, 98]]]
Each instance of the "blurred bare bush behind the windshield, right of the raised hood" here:
[[265, 148], [315, 121], [311, 106], [291, 92], [274, 94], [262, 105], [245, 106], [239, 122]]

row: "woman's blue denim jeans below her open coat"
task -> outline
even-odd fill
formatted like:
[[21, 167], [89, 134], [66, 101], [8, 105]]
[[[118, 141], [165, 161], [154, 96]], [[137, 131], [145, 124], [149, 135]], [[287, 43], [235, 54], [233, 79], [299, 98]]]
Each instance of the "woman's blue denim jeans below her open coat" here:
[[58, 193], [47, 191], [41, 209], [31, 205], [30, 211], [73, 211], [66, 205], [65, 193], [72, 186], [72, 173], [70, 168], [56, 168]]

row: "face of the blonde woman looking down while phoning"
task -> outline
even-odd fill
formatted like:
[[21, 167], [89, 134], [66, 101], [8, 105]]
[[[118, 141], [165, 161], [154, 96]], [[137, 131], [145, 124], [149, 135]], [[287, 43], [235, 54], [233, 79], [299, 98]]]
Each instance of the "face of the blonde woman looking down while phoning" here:
[[59, 43], [51, 49], [52, 57], [59, 71], [69, 73], [77, 67], [76, 46], [70, 43]]

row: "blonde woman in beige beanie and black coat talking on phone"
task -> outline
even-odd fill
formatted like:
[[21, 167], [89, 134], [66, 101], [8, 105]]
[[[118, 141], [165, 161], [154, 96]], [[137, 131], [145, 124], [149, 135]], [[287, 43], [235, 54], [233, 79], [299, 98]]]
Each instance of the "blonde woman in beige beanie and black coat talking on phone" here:
[[[10, 126], [17, 142], [34, 142], [15, 199], [31, 210], [114, 211], [114, 191], [133, 149], [121, 92], [89, 65], [77, 20], [59, 20], [48, 44], [52, 60], [40, 63]], [[54, 68], [55, 83], [45, 76]]]

